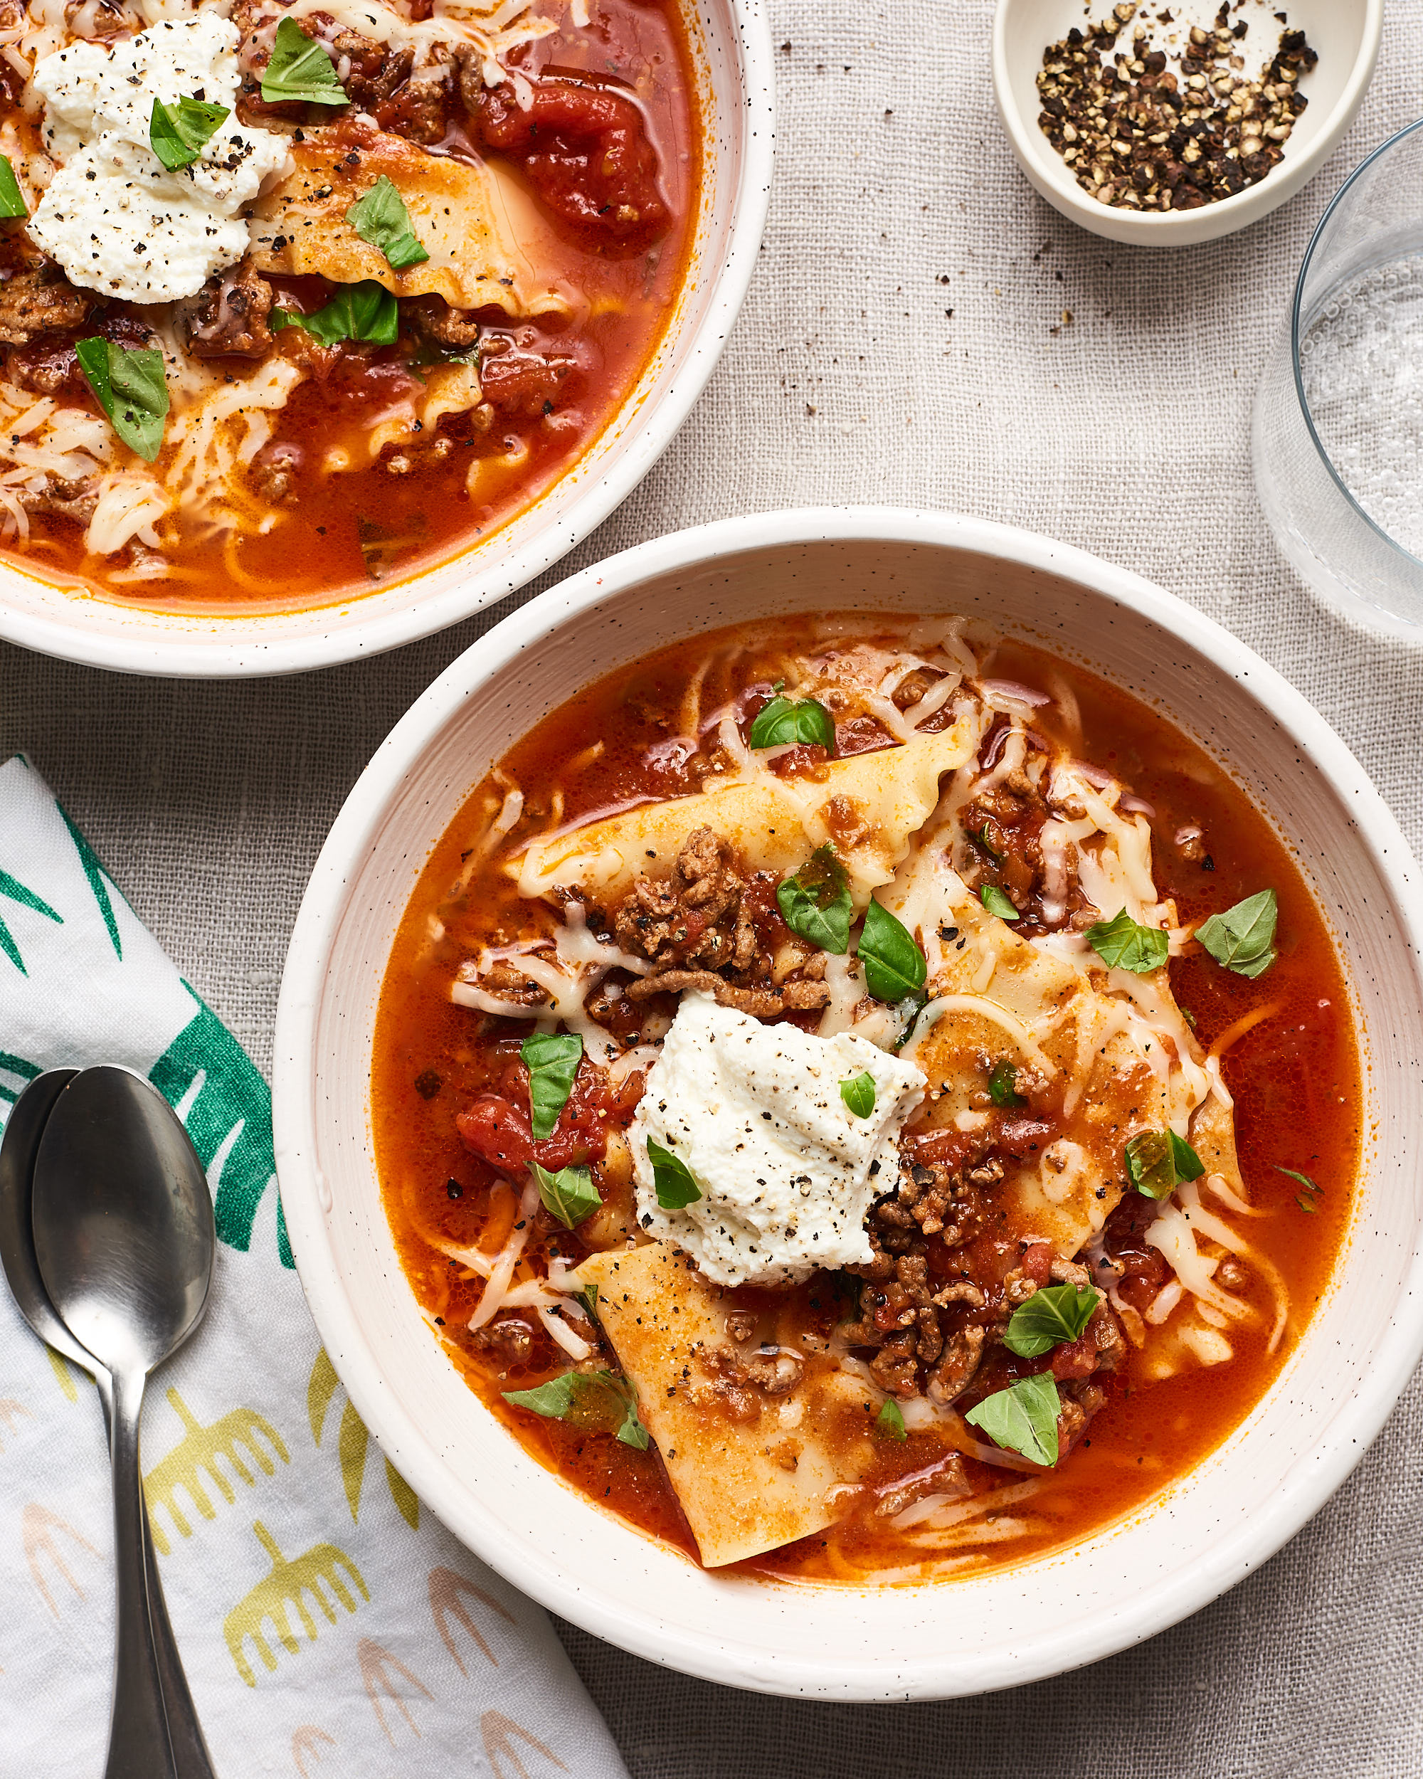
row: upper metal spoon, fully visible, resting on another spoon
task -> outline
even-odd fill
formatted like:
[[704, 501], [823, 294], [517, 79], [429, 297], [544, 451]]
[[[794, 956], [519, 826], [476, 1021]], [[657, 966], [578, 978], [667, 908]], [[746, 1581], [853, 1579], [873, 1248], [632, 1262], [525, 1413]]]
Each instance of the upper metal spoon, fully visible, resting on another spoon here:
[[30, 1219], [53, 1309], [112, 1381], [117, 1649], [105, 1779], [176, 1779], [144, 1576], [139, 1416], [148, 1373], [203, 1315], [215, 1235], [203, 1167], [162, 1094], [112, 1066], [69, 1082], [39, 1139]]

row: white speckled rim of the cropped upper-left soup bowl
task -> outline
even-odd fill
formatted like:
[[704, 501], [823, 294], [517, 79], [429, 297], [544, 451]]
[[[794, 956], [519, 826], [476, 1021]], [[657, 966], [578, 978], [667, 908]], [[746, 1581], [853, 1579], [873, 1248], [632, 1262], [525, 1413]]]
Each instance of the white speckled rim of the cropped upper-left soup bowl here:
[[[699, 11], [695, 0], [685, 0], [685, 4], [692, 14]], [[347, 605], [359, 605], [359, 598], [356, 598], [333, 600], [295, 612], [258, 614], [256, 617], [178, 614], [189, 621], [189, 628], [164, 630], [164, 621], [171, 614], [155, 614], [137, 605], [130, 610], [76, 589], [68, 596], [75, 603], [82, 603], [85, 598], [96, 600], [96, 603], [110, 607], [116, 617], [132, 621], [123, 630], [85, 630], [71, 621], [66, 607], [60, 607], [59, 614], [11, 608], [7, 580], [39, 584], [46, 591], [52, 589], [52, 584], [37, 575], [25, 575], [23, 569], [0, 564], [0, 639], [37, 655], [76, 662], [82, 667], [103, 667], [112, 672], [194, 680], [310, 672], [365, 660], [370, 655], [381, 655], [386, 649], [402, 648], [407, 642], [418, 642], [436, 632], [448, 630], [527, 587], [530, 580], [551, 569], [583, 543], [640, 486], [681, 429], [720, 361], [756, 272], [770, 205], [776, 144], [776, 55], [768, 0], [726, 0], [726, 7], [740, 52], [742, 76], [740, 100], [726, 107], [726, 121], [740, 132], [742, 148], [740, 180], [728, 201], [726, 251], [717, 258], [710, 276], [704, 270], [699, 272], [695, 262], [688, 270], [688, 283], [704, 283], [708, 292], [703, 318], [688, 338], [685, 363], [669, 377], [655, 404], [649, 404], [637, 388], [630, 391], [630, 398], [598, 434], [603, 438], [623, 416], [635, 415], [628, 423], [624, 448], [605, 468], [599, 468], [596, 479], [571, 502], [567, 511], [532, 530], [519, 548], [509, 553], [500, 548], [500, 539], [507, 530], [502, 527], [482, 546], [464, 553], [470, 562], [468, 571], [455, 575], [446, 587], [423, 598], [416, 596], [409, 603], [393, 605], [365, 623], [356, 617], [352, 623], [331, 624], [334, 612]], [[708, 151], [715, 148], [710, 132], [704, 146]], [[598, 439], [594, 439], [594, 448], [596, 443]], [[569, 464], [564, 477], [551, 484], [541, 500], [548, 498], [582, 461], [580, 457]], [[475, 568], [473, 557], [480, 551], [486, 560], [484, 566]], [[461, 559], [455, 557], [454, 562], [457, 564]], [[436, 564], [413, 582], [397, 584], [393, 591], [418, 587], [422, 578], [448, 566]], [[263, 617], [272, 621], [306, 617], [308, 624], [293, 635], [276, 630], [263, 633]], [[222, 635], [224, 626], [245, 626], [247, 633], [228, 639]], [[219, 640], [212, 640], [213, 633]]]

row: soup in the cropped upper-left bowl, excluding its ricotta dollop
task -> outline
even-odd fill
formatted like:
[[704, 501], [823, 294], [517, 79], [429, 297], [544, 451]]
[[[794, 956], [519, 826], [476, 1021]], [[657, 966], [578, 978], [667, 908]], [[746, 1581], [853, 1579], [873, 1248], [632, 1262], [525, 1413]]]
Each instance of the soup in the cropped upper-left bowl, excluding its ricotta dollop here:
[[[73, 281], [27, 219], [0, 221], [0, 553], [144, 607], [322, 605], [489, 539], [637, 384], [695, 229], [678, 0], [452, 0], [438, 16], [429, 0], [238, 0], [231, 20], [235, 119], [293, 155], [242, 206], [245, 256], [181, 301], [142, 302]], [[279, 20], [327, 59], [333, 103], [263, 96]], [[110, 44], [144, 25], [126, 0], [25, 9], [16, 66], [0, 68], [0, 149], [32, 217], [64, 142], [46, 141], [53, 107], [20, 64], [84, 44], [80, 28]], [[132, 153], [162, 173], [146, 142]], [[352, 233], [377, 178], [427, 262], [386, 263]], [[377, 286], [393, 320], [302, 326]], [[105, 420], [82, 340], [164, 354], [151, 463]]]

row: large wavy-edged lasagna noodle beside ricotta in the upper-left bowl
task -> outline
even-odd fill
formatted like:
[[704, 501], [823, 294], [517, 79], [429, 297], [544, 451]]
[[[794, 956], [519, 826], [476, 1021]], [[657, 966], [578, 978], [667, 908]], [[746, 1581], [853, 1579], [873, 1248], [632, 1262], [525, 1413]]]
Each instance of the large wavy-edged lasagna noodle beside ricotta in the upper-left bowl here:
[[[438, 295], [457, 310], [573, 313], [575, 294], [551, 270], [548, 224], [493, 162], [475, 167], [429, 155], [361, 125], [313, 130], [292, 142], [292, 160], [293, 171], [253, 205], [260, 272], [315, 272], [338, 285], [374, 279], [397, 297]], [[347, 221], [347, 210], [382, 176], [404, 197], [429, 253], [398, 272]]]

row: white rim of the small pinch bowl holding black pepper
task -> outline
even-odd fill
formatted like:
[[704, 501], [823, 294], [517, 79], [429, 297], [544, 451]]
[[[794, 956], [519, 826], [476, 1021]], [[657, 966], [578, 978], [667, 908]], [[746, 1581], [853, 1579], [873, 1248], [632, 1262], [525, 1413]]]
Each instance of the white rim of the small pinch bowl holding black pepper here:
[[1062, 157], [1037, 128], [1037, 119], [1025, 117], [1017, 105], [1009, 75], [1014, 60], [1009, 48], [1009, 28], [1010, 14], [1019, 4], [1021, 0], [998, 0], [993, 18], [993, 94], [1017, 164], [1037, 192], [1065, 217], [1094, 235], [1142, 247], [1185, 247], [1202, 240], [1218, 240], [1222, 235], [1234, 235], [1236, 229], [1249, 228], [1250, 222], [1258, 222], [1288, 203], [1314, 178], [1339, 146], [1339, 139], [1364, 101], [1384, 41], [1384, 0], [1359, 0], [1364, 14], [1359, 53], [1339, 98], [1325, 116], [1311, 148], [1297, 160], [1286, 158], [1259, 185], [1250, 185], [1243, 192], [1236, 192], [1234, 197], [1204, 205], [1201, 210], [1117, 210], [1112, 205], [1099, 205], [1083, 192], [1067, 173]]

